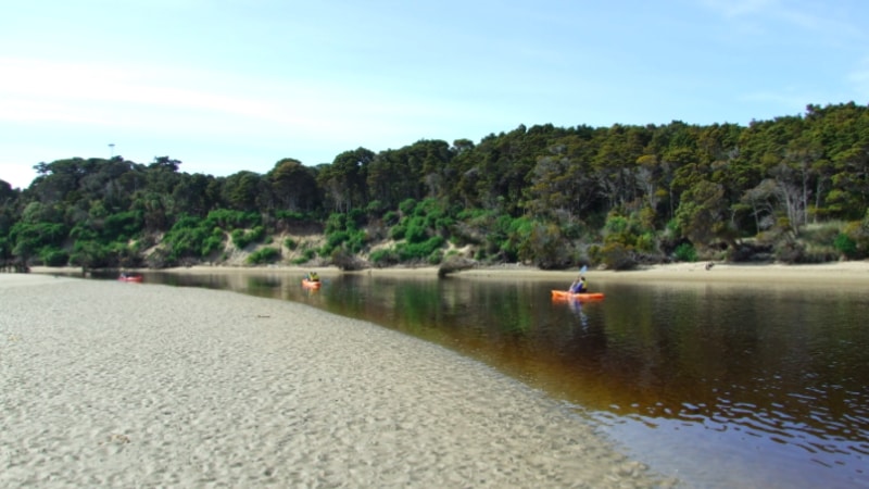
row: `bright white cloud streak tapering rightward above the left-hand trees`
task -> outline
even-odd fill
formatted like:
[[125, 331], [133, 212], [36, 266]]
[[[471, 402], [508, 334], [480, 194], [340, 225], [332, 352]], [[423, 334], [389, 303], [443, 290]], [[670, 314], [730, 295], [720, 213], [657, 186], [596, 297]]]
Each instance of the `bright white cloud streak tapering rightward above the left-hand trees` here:
[[[5, 75], [0, 78], [0, 118], [9, 122], [38, 120], [217, 134], [352, 131], [364, 137], [406, 135], [414, 120], [443, 120], [467, 109], [358, 87], [269, 84], [223, 73], [153, 66], [110, 68], [5, 59], [0, 60], [0, 67]], [[161, 79], [171, 79], [174, 86]]]

